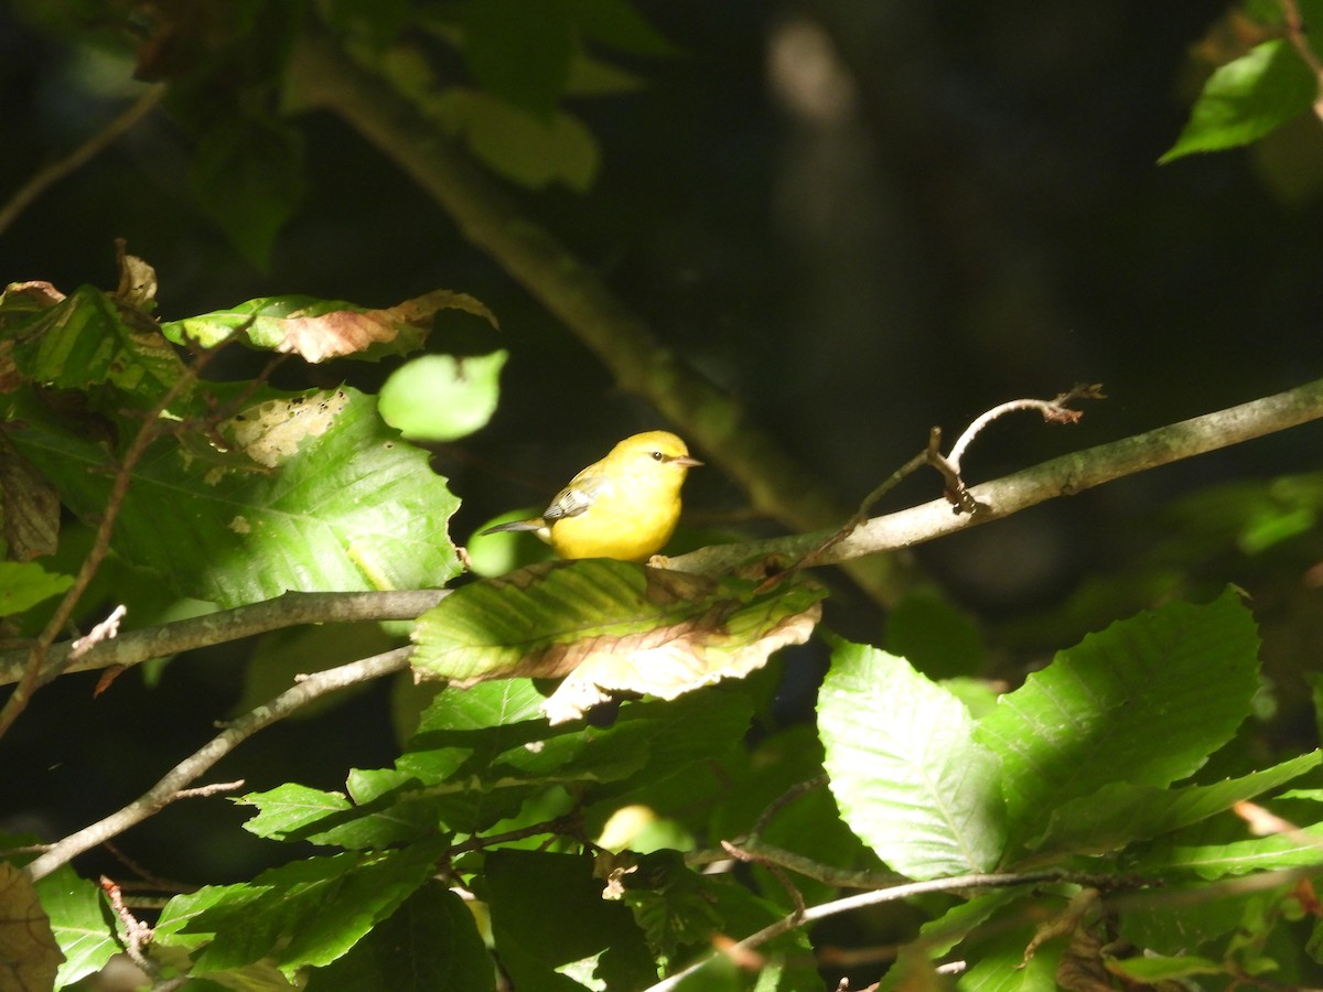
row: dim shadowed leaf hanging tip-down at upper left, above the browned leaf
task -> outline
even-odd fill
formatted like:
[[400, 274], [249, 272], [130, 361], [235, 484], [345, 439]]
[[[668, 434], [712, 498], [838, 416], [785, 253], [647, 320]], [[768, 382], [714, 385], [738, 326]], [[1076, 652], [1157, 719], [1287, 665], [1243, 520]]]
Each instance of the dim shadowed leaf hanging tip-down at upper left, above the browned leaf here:
[[303, 142], [296, 131], [232, 118], [198, 140], [189, 186], [230, 243], [267, 270], [275, 238], [303, 198]]

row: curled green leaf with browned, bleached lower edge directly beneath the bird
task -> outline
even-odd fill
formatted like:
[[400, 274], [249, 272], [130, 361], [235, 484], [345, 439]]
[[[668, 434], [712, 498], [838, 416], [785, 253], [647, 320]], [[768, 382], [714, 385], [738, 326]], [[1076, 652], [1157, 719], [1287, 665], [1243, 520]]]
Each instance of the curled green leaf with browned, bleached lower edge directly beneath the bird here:
[[671, 700], [808, 638], [820, 589], [754, 587], [630, 562], [545, 562], [459, 589], [423, 614], [414, 672], [460, 686], [565, 676], [542, 706], [553, 723], [613, 689]]

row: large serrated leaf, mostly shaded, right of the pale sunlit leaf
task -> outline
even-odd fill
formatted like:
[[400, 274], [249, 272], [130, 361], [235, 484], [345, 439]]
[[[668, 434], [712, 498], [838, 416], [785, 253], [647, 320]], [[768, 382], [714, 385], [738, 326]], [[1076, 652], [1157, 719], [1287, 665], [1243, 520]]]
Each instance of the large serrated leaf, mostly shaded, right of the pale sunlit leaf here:
[[1228, 590], [1090, 634], [1003, 696], [978, 739], [1002, 757], [1012, 839], [1114, 782], [1162, 787], [1199, 770], [1250, 712], [1257, 649]]

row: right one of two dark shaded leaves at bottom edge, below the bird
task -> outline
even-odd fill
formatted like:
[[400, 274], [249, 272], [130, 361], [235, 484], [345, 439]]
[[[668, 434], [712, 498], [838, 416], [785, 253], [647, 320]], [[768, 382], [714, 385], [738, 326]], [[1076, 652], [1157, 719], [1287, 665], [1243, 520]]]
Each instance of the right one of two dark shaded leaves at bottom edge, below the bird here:
[[602, 955], [613, 989], [656, 981], [656, 966], [630, 911], [602, 898], [593, 858], [532, 850], [487, 856], [480, 895], [491, 906], [496, 954], [516, 988], [578, 989], [556, 968]]

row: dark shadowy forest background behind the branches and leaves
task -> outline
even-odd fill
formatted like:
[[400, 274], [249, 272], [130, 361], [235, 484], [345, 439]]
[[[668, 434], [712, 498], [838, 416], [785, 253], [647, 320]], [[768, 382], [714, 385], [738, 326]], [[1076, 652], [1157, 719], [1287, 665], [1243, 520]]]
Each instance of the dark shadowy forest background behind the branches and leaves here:
[[[20, 7], [0, 8], [0, 197], [136, 93], [123, 62], [36, 29]], [[971, 480], [1320, 374], [1319, 123], [1156, 165], [1208, 58], [1236, 53], [1234, 30], [1215, 30], [1225, 4], [639, 8], [679, 54], [638, 63], [650, 81], [640, 93], [572, 106], [602, 145], [595, 188], [515, 193], [844, 499], [918, 451], [931, 425], [954, 435], [1008, 398], [1076, 382], [1102, 382], [1110, 397], [1076, 427], [1029, 415], [996, 425], [966, 462]], [[512, 357], [493, 422], [437, 456], [466, 499], [458, 541], [548, 495], [521, 480], [554, 488], [615, 439], [665, 426], [376, 149], [328, 115], [299, 126], [307, 196], [270, 270], [239, 257], [194, 206], [189, 142], [157, 111], [0, 234], [0, 276], [108, 287], [112, 241], [123, 237], [156, 267], [169, 319], [274, 294], [372, 306], [438, 287], [478, 296], [500, 317]], [[974, 615], [1012, 623], [1142, 554], [1160, 538], [1144, 521], [1171, 497], [1315, 470], [1320, 442], [1318, 425], [1287, 431], [979, 528], [919, 558]], [[931, 480], [912, 480], [890, 505], [935, 493]], [[741, 503], [705, 468], [687, 509], [701, 522]], [[861, 636], [880, 624], [857, 608], [841, 619]], [[17, 800], [9, 825], [60, 836], [118, 808], [213, 733], [208, 721], [237, 698], [241, 664], [233, 652], [187, 659], [155, 689], [124, 679], [101, 701], [91, 676], [45, 689], [0, 743], [52, 755], [36, 779], [29, 768], [0, 783]], [[349, 766], [390, 761], [382, 693], [332, 720], [329, 730], [325, 721], [269, 730], [216, 778], [333, 788]], [[19, 772], [0, 765], [5, 779]], [[123, 845], [152, 849], [168, 872], [173, 854], [151, 837], [197, 836], [179, 865], [212, 876], [267, 850], [235, 849], [235, 831], [204, 845], [220, 806], [171, 811]], [[175, 816], [197, 823], [181, 831]]]

